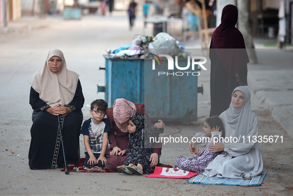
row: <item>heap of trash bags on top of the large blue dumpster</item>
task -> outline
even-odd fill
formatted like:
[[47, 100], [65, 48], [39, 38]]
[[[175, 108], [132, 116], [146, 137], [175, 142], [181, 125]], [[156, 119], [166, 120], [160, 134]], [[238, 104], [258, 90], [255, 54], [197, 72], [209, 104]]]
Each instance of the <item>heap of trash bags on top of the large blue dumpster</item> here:
[[162, 49], [172, 50], [174, 55], [180, 56], [181, 53], [181, 56], [185, 56], [185, 46], [168, 33], [159, 33], [156, 37], [139, 35], [136, 39], [132, 40], [131, 45], [110, 50], [108, 55], [110, 58], [145, 58], [150, 53], [161, 53]]

